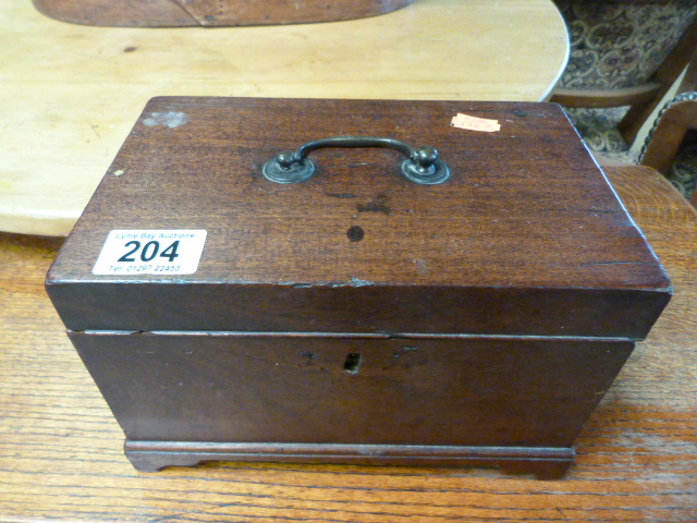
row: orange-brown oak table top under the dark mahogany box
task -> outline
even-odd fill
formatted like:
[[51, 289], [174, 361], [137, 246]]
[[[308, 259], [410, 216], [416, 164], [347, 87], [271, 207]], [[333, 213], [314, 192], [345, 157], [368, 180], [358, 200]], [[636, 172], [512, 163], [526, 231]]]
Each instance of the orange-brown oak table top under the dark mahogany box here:
[[0, 521], [695, 521], [697, 212], [651, 169], [607, 172], [675, 295], [561, 481], [252, 463], [138, 473], [42, 288], [61, 240], [0, 233]]

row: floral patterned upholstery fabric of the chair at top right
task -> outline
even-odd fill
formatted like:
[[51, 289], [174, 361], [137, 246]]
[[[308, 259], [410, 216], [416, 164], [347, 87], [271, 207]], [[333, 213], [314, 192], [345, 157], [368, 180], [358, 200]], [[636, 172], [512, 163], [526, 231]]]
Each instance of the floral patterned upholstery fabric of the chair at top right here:
[[[571, 37], [559, 87], [616, 89], [647, 82], [697, 16], [696, 0], [555, 0]], [[588, 146], [626, 154], [616, 129], [627, 107], [568, 108]]]

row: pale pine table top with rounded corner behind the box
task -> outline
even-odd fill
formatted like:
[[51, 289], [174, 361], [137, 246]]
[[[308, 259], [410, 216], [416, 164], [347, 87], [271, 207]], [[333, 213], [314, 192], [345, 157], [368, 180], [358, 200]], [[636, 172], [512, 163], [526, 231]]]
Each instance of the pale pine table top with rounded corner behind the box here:
[[567, 53], [551, 0], [159, 29], [71, 25], [0, 0], [0, 230], [68, 234], [154, 96], [537, 101]]

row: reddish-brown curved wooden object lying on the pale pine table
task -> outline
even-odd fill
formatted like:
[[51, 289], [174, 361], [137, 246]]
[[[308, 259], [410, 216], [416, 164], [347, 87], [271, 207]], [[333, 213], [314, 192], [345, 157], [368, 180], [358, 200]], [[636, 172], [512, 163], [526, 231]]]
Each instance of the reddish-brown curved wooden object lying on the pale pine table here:
[[279, 25], [389, 13], [414, 0], [34, 0], [63, 22], [120, 27]]

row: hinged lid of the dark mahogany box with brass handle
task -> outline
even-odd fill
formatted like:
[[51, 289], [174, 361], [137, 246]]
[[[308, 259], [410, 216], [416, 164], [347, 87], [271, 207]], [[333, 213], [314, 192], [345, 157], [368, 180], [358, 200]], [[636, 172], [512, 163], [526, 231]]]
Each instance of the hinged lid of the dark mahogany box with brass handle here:
[[[333, 147], [304, 182], [262, 174], [346, 135], [433, 146], [450, 178], [417, 184], [400, 153]], [[206, 239], [193, 273], [93, 273], [118, 230]], [[623, 339], [671, 291], [555, 105], [198, 97], [150, 100], [47, 289], [72, 330]]]

